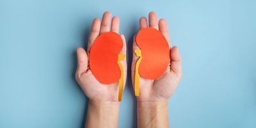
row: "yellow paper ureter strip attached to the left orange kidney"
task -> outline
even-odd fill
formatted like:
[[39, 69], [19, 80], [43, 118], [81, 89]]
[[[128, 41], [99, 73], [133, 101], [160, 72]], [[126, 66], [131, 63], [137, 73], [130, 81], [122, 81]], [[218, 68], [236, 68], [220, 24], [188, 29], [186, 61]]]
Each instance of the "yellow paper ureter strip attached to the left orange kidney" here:
[[121, 65], [120, 61], [124, 60], [125, 54], [118, 54], [118, 61], [117, 64], [121, 70], [121, 77], [119, 79], [119, 93], [118, 93], [118, 101], [122, 100], [123, 90], [124, 90], [124, 68]]

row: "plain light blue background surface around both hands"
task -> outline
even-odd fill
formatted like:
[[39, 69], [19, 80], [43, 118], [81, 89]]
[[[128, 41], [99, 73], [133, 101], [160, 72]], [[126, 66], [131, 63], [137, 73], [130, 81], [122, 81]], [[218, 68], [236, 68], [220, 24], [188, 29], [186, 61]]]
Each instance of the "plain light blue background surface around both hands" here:
[[[170, 99], [170, 126], [256, 127], [256, 2], [0, 0], [0, 127], [83, 127], [88, 99], [74, 79], [76, 47], [94, 17], [120, 17], [131, 65], [138, 19], [168, 20], [184, 76]], [[131, 72], [128, 72], [128, 76]], [[119, 127], [136, 127], [128, 78]]]

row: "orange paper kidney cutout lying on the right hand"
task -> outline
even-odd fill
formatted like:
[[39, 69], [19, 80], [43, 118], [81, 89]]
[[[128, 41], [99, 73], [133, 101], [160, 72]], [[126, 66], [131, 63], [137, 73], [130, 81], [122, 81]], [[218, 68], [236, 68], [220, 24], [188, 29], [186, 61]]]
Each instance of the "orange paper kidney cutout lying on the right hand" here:
[[141, 49], [140, 76], [157, 79], [164, 74], [170, 63], [170, 49], [166, 38], [157, 29], [143, 28], [136, 36]]

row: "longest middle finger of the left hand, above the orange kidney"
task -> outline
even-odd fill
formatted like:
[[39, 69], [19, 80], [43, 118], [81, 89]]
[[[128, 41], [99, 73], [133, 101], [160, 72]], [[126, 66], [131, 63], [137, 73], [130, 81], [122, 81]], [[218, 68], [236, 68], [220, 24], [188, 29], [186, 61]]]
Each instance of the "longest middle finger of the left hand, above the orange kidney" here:
[[100, 26], [100, 34], [110, 31], [111, 13], [105, 12], [102, 16], [102, 22]]

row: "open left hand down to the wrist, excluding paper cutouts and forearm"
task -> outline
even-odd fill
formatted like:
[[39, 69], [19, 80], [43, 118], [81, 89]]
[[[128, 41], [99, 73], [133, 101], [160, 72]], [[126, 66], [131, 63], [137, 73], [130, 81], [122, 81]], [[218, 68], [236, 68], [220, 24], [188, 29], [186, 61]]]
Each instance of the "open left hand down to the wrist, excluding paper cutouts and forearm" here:
[[[111, 26], [110, 26], [111, 25]], [[102, 84], [93, 76], [92, 71], [88, 65], [89, 53], [94, 40], [102, 33], [113, 31], [119, 33], [119, 18], [113, 17], [111, 20], [111, 13], [105, 12], [102, 17], [102, 22], [96, 18], [92, 22], [92, 29], [88, 40], [87, 53], [83, 48], [77, 48], [77, 71], [76, 80], [83, 89], [83, 92], [90, 99], [95, 102], [118, 102], [118, 82], [113, 84]], [[120, 35], [123, 40], [123, 48], [120, 54], [126, 54], [126, 43], [124, 35]], [[117, 56], [117, 55], [116, 55]], [[126, 60], [121, 61], [124, 67], [124, 83], [127, 76]]]

